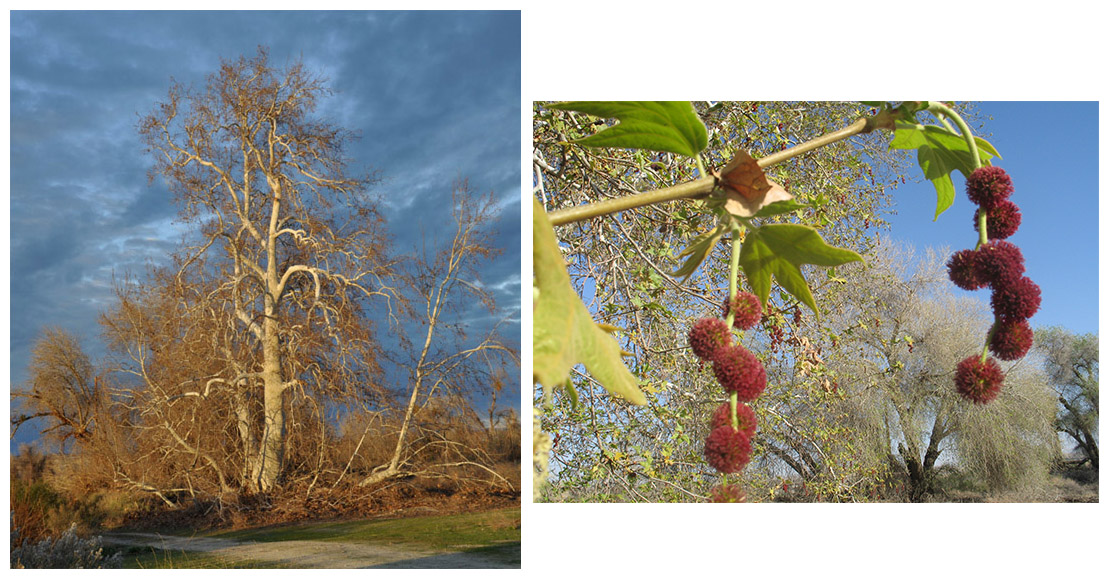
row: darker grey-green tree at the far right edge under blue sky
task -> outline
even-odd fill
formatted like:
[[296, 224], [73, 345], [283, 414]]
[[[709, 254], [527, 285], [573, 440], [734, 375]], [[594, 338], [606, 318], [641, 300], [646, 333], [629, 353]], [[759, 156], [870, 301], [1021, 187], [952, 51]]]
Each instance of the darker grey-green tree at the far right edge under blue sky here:
[[1065, 328], [1039, 328], [1035, 348], [1045, 359], [1046, 372], [1057, 394], [1055, 426], [1073, 439], [1074, 450], [1100, 469], [1098, 422], [1100, 420], [1100, 346], [1095, 334], [1072, 334]]

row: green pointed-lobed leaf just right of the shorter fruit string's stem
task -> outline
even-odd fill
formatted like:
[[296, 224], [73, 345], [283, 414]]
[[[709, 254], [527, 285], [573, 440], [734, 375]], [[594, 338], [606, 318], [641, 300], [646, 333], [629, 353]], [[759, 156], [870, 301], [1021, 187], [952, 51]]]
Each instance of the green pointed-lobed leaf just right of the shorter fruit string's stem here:
[[816, 230], [805, 225], [764, 225], [744, 240], [739, 254], [752, 291], [766, 303], [769, 300], [771, 277], [794, 298], [809, 306], [814, 314], [816, 301], [801, 272], [801, 265], [840, 265], [862, 261], [853, 251], [829, 245]]

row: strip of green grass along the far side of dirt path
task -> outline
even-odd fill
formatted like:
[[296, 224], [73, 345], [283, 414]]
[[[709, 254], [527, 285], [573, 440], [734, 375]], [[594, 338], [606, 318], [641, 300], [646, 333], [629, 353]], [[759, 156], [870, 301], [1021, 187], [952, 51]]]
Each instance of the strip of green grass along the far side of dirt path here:
[[423, 516], [383, 521], [349, 521], [284, 525], [216, 533], [209, 536], [242, 541], [338, 541], [401, 544], [432, 550], [495, 548], [498, 552], [521, 550], [521, 510]]

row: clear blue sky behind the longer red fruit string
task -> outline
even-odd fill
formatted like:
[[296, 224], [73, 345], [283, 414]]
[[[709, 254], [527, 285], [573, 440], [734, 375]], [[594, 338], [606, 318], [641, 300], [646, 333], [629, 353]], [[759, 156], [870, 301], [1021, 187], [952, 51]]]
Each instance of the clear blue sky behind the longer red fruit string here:
[[[1033, 327], [1064, 326], [1076, 334], [1100, 330], [1100, 165], [1096, 102], [981, 102], [978, 132], [999, 150], [993, 165], [1015, 184], [1011, 200], [1023, 224], [1008, 241], [1023, 250], [1027, 277], [1043, 291]], [[953, 174], [956, 202], [933, 221], [933, 185], [914, 164], [895, 192], [892, 239], [916, 248], [972, 248], [976, 212], [964, 179]], [[987, 300], [988, 290], [965, 292]]]

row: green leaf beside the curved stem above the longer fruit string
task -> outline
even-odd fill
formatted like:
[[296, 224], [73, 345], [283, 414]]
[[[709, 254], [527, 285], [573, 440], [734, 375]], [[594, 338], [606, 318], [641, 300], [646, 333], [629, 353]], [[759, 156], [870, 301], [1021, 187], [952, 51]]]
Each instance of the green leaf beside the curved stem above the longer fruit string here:
[[[987, 164], [995, 148], [987, 141], [977, 148], [980, 150], [980, 162]], [[972, 169], [972, 155], [969, 143], [959, 134], [941, 127], [916, 124], [895, 129], [895, 138], [890, 141], [892, 149], [917, 149], [917, 164], [922, 167], [925, 178], [937, 190], [937, 207], [933, 214], [934, 221], [945, 209], [953, 205], [956, 190], [950, 174], [954, 170], [968, 176]]]

